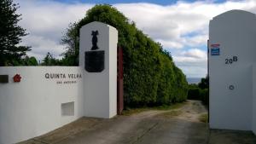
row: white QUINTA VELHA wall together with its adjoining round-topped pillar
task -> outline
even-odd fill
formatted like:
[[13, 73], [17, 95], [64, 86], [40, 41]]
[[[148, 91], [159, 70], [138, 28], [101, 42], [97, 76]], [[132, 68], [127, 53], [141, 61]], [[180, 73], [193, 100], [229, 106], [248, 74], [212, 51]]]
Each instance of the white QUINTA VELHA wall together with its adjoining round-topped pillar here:
[[[84, 70], [84, 51], [91, 48], [92, 30], [99, 31], [98, 46], [105, 50], [103, 72]], [[81, 30], [79, 66], [0, 67], [0, 75], [9, 75], [9, 83], [0, 84], [0, 144], [43, 135], [83, 116], [115, 116], [117, 41], [115, 28], [93, 22]], [[46, 73], [59, 74], [59, 78], [46, 78]], [[14, 83], [15, 74], [20, 74], [20, 83]], [[76, 76], [69, 78], [69, 74]]]

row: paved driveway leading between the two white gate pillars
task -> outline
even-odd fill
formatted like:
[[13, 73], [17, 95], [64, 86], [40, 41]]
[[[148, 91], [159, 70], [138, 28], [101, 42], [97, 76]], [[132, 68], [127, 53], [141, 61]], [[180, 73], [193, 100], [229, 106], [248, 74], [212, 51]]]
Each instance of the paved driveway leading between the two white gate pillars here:
[[[227, 141], [234, 144], [232, 135], [227, 138], [222, 135], [223, 131], [212, 131], [209, 136], [207, 124], [198, 119], [206, 112], [200, 101], [188, 101], [172, 111], [147, 111], [112, 119], [80, 118], [20, 144], [220, 144], [222, 140], [224, 144], [229, 144]], [[251, 133], [248, 135], [243, 138], [255, 144], [255, 137]]]

